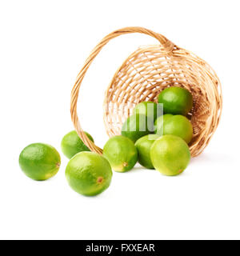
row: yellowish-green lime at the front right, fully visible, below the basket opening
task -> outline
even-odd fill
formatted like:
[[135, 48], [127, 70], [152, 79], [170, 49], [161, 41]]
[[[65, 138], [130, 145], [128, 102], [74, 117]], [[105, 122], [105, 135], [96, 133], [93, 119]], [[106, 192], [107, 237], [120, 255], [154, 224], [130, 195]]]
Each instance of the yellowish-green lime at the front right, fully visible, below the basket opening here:
[[190, 150], [182, 138], [163, 135], [151, 147], [150, 158], [154, 168], [162, 174], [178, 175], [190, 162]]

